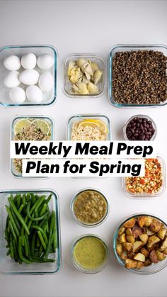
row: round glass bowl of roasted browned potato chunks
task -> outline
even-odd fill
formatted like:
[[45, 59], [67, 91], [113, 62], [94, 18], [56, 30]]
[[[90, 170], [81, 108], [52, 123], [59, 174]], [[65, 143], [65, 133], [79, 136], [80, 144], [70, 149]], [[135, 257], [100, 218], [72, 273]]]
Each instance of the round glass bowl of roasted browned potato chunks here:
[[115, 230], [113, 250], [117, 262], [135, 274], [154, 274], [167, 265], [167, 225], [150, 213], [125, 219]]

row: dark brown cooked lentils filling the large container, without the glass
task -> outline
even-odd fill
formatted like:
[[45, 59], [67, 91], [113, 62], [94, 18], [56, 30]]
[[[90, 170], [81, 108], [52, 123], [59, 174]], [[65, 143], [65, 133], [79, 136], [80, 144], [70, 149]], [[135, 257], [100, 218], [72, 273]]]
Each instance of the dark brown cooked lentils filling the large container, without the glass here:
[[116, 52], [113, 57], [113, 98], [117, 103], [159, 104], [167, 99], [167, 57], [163, 52]]

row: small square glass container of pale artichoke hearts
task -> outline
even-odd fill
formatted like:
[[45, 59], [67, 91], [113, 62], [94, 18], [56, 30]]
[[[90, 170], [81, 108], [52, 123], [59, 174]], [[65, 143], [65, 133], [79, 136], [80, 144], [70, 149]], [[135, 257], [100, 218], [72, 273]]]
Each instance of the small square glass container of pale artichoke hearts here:
[[64, 94], [71, 98], [97, 98], [105, 91], [105, 62], [99, 54], [67, 55], [62, 76]]

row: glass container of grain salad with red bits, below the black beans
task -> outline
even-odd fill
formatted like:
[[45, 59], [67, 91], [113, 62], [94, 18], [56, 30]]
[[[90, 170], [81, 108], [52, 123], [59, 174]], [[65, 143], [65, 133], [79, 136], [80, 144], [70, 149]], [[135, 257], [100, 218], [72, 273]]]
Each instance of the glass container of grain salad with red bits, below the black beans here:
[[145, 159], [145, 176], [122, 179], [125, 195], [129, 198], [153, 198], [163, 195], [166, 189], [166, 166], [162, 157]]

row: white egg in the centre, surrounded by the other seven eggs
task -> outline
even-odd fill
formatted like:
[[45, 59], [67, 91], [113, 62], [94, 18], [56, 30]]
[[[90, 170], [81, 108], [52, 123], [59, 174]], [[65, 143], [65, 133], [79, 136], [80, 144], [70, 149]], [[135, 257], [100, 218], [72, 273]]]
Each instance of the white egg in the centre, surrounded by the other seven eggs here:
[[20, 80], [23, 84], [28, 86], [31, 84], [37, 84], [40, 74], [34, 69], [26, 69], [20, 74]]

